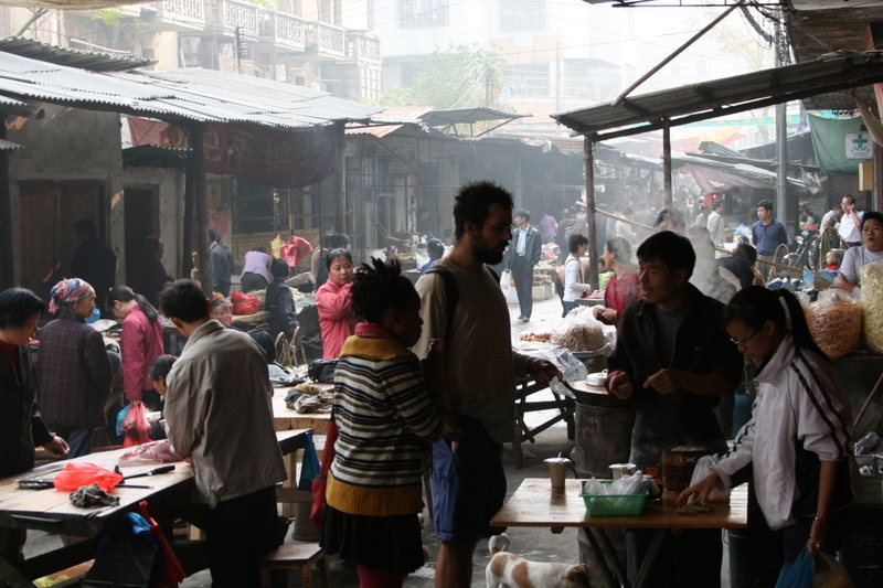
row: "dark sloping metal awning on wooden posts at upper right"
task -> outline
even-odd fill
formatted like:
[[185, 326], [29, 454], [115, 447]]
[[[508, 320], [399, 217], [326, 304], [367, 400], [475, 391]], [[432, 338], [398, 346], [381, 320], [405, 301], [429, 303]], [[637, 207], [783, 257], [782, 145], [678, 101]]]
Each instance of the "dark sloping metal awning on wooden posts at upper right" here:
[[552, 118], [577, 135], [600, 141], [877, 82], [883, 82], [883, 52], [838, 53], [813, 62], [630, 96], [617, 106], [609, 103], [557, 113]]

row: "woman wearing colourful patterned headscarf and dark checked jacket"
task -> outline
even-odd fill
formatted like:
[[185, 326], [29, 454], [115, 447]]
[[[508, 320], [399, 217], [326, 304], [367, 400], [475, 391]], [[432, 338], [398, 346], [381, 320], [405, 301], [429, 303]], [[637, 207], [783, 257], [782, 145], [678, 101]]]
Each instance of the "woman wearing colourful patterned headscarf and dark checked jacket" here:
[[95, 308], [92, 286], [62, 280], [50, 297], [57, 319], [40, 331], [40, 410], [46, 426], [67, 440], [67, 457], [76, 458], [92, 452], [94, 430], [106, 425], [110, 360], [102, 334], [84, 320]]

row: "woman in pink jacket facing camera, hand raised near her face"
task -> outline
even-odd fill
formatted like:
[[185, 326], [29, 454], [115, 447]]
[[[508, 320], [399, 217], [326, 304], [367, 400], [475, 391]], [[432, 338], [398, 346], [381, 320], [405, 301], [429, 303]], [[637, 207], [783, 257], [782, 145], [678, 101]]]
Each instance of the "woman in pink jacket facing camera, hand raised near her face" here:
[[328, 281], [316, 292], [316, 306], [322, 330], [322, 359], [333, 360], [355, 332], [355, 313], [350, 309], [352, 255], [347, 249], [334, 249], [326, 256], [325, 266]]

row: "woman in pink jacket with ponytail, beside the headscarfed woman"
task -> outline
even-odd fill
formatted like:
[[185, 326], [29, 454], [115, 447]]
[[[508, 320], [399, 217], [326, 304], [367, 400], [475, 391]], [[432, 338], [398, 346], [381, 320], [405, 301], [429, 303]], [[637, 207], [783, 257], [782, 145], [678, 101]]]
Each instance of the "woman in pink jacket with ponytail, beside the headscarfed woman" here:
[[160, 397], [150, 379], [150, 366], [163, 354], [162, 325], [157, 309], [128, 286], [115, 286], [107, 295], [107, 310], [123, 320], [119, 346], [126, 398], [131, 403], [143, 402], [148, 409], [158, 410]]

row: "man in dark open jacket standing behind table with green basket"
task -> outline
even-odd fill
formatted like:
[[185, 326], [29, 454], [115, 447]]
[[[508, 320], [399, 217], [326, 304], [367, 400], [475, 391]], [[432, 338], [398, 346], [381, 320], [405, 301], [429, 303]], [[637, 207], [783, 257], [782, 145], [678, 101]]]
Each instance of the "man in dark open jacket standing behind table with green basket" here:
[[[724, 306], [689, 280], [695, 264], [690, 240], [670, 231], [638, 247], [643, 300], [620, 318], [606, 387], [631, 399], [637, 419], [629, 461], [658, 467], [677, 447], [726, 450], [714, 407], [740, 382], [742, 356], [721, 327]], [[640, 566], [652, 532], [627, 534], [629, 576]], [[720, 586], [723, 548], [719, 531], [670, 536], [653, 570], [653, 586]]]

